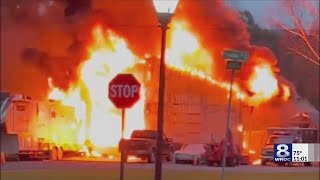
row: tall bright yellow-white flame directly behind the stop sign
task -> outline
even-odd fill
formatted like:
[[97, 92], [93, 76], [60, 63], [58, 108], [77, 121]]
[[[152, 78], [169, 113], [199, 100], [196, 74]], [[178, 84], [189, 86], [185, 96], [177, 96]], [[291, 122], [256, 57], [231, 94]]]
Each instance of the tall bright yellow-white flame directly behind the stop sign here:
[[[118, 73], [132, 67], [136, 60], [127, 48], [126, 42], [112, 31], [103, 31], [96, 26], [93, 31], [93, 43], [88, 46], [88, 58], [81, 65], [80, 80], [75, 88], [63, 92], [49, 85], [49, 98], [60, 99], [66, 105], [75, 107], [82, 128], [78, 134], [79, 144], [86, 140], [95, 147], [116, 146], [121, 136], [120, 113], [108, 100], [109, 81]], [[87, 98], [81, 97], [81, 89], [88, 92]], [[125, 137], [133, 129], [144, 128], [144, 89], [140, 101], [126, 112]]]

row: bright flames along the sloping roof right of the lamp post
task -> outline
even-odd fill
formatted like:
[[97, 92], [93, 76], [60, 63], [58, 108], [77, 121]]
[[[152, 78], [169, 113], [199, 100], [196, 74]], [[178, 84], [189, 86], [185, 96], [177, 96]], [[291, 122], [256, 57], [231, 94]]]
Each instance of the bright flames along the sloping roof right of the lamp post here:
[[[220, 82], [212, 77], [214, 60], [208, 50], [202, 47], [197, 38], [188, 31], [186, 25], [175, 22], [171, 25], [171, 29], [171, 39], [167, 49], [167, 65], [190, 75], [206, 79], [208, 83], [228, 90], [229, 82]], [[183, 42], [183, 46], [181, 42]], [[233, 85], [233, 91], [238, 99], [242, 99], [250, 105], [259, 105], [279, 94], [278, 84], [279, 82], [271, 66], [266, 64], [255, 67], [253, 74], [250, 76], [248, 90], [253, 92], [253, 96], [248, 96], [237, 83]], [[286, 101], [290, 96], [290, 89], [284, 84], [280, 88], [283, 91], [283, 100]]]

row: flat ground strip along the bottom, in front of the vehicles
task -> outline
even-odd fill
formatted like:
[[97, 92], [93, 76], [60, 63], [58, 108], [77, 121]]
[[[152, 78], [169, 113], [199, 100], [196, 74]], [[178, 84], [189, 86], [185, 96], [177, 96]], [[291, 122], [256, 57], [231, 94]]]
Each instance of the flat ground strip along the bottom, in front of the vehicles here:
[[[163, 180], [220, 179], [221, 167], [163, 164]], [[318, 180], [319, 167], [238, 166], [226, 168], [225, 180]], [[117, 161], [25, 161], [1, 165], [1, 180], [119, 180]], [[125, 165], [125, 180], [154, 179], [154, 164]]]

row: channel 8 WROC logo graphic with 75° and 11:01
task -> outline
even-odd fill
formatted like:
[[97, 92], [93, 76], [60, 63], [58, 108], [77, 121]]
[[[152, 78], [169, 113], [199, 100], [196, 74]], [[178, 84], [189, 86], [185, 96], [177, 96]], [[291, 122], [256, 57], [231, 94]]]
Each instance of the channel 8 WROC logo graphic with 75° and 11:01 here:
[[274, 162], [320, 162], [320, 144], [274, 144]]

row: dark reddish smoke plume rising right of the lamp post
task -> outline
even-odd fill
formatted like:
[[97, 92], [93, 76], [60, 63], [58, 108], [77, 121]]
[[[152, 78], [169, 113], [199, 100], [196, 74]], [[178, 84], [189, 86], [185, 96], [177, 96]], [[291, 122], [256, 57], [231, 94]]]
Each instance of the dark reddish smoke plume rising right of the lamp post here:
[[250, 35], [240, 14], [222, 0], [181, 1], [176, 20], [189, 22], [189, 28], [197, 35], [202, 46], [211, 53], [215, 79], [229, 81], [230, 78], [222, 57], [224, 49], [249, 52], [248, 61], [243, 64], [241, 71], [237, 72], [237, 82], [244, 89], [247, 89], [245, 83], [256, 65], [269, 64], [274, 72], [279, 72], [274, 54], [268, 48], [249, 43]]

